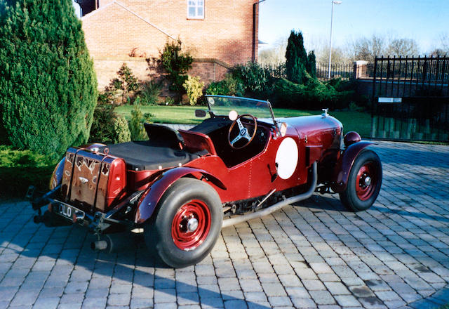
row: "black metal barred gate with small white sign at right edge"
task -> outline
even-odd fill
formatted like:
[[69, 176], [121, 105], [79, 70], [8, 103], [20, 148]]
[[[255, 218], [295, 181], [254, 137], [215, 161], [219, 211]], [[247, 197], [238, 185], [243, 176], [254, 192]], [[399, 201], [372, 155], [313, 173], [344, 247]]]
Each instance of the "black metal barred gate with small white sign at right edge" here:
[[375, 58], [371, 137], [449, 141], [449, 58]]

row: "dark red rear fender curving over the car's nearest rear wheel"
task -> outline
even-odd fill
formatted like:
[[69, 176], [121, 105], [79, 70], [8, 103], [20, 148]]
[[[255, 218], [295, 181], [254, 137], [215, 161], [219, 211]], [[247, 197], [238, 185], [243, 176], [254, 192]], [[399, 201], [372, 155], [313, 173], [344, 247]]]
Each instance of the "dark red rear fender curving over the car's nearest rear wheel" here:
[[154, 213], [154, 209], [156, 209], [159, 199], [161, 199], [163, 193], [166, 192], [170, 185], [173, 185], [173, 183], [175, 183], [175, 181], [179, 178], [192, 175], [194, 173], [201, 174], [218, 188], [226, 190], [226, 186], [220, 179], [202, 169], [194, 169], [192, 167], [185, 166], [170, 169], [157, 178], [156, 181], [154, 181], [154, 183], [147, 188], [142, 197], [140, 197], [134, 222], [140, 224], [147, 221]]

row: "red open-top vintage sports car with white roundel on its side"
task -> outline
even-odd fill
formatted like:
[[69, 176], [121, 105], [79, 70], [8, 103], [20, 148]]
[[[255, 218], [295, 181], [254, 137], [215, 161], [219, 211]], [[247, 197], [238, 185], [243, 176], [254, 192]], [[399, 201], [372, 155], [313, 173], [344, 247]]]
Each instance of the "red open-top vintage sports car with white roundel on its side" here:
[[375, 202], [382, 165], [366, 149], [372, 143], [355, 132], [343, 137], [326, 110], [275, 118], [268, 101], [205, 100], [210, 117], [192, 129], [145, 124], [149, 140], [69, 148], [51, 191], [29, 192], [34, 222], [83, 225], [99, 235], [93, 249], [111, 249], [116, 233], [142, 228], [149, 251], [178, 268], [207, 256], [222, 227], [315, 191], [338, 193], [351, 211]]

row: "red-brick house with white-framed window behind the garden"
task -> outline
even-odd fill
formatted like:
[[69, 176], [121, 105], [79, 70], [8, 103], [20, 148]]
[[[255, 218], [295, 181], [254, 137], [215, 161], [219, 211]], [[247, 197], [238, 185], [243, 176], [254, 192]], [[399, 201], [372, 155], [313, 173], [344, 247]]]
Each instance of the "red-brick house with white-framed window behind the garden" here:
[[189, 74], [206, 84], [257, 58], [257, 0], [76, 0], [100, 89], [125, 62], [147, 78], [145, 58], [180, 39], [195, 58]]

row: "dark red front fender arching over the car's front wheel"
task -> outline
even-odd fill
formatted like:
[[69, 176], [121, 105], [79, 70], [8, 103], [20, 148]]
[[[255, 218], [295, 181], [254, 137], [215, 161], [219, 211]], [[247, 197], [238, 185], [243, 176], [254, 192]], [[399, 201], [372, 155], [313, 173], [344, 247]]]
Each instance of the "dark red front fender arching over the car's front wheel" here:
[[334, 192], [342, 192], [346, 190], [349, 172], [351, 171], [352, 164], [354, 164], [356, 157], [364, 148], [373, 144], [374, 143], [363, 140], [361, 142], [349, 145], [349, 147], [344, 150], [340, 158], [337, 160], [337, 164], [335, 164], [333, 182], [331, 185]]

